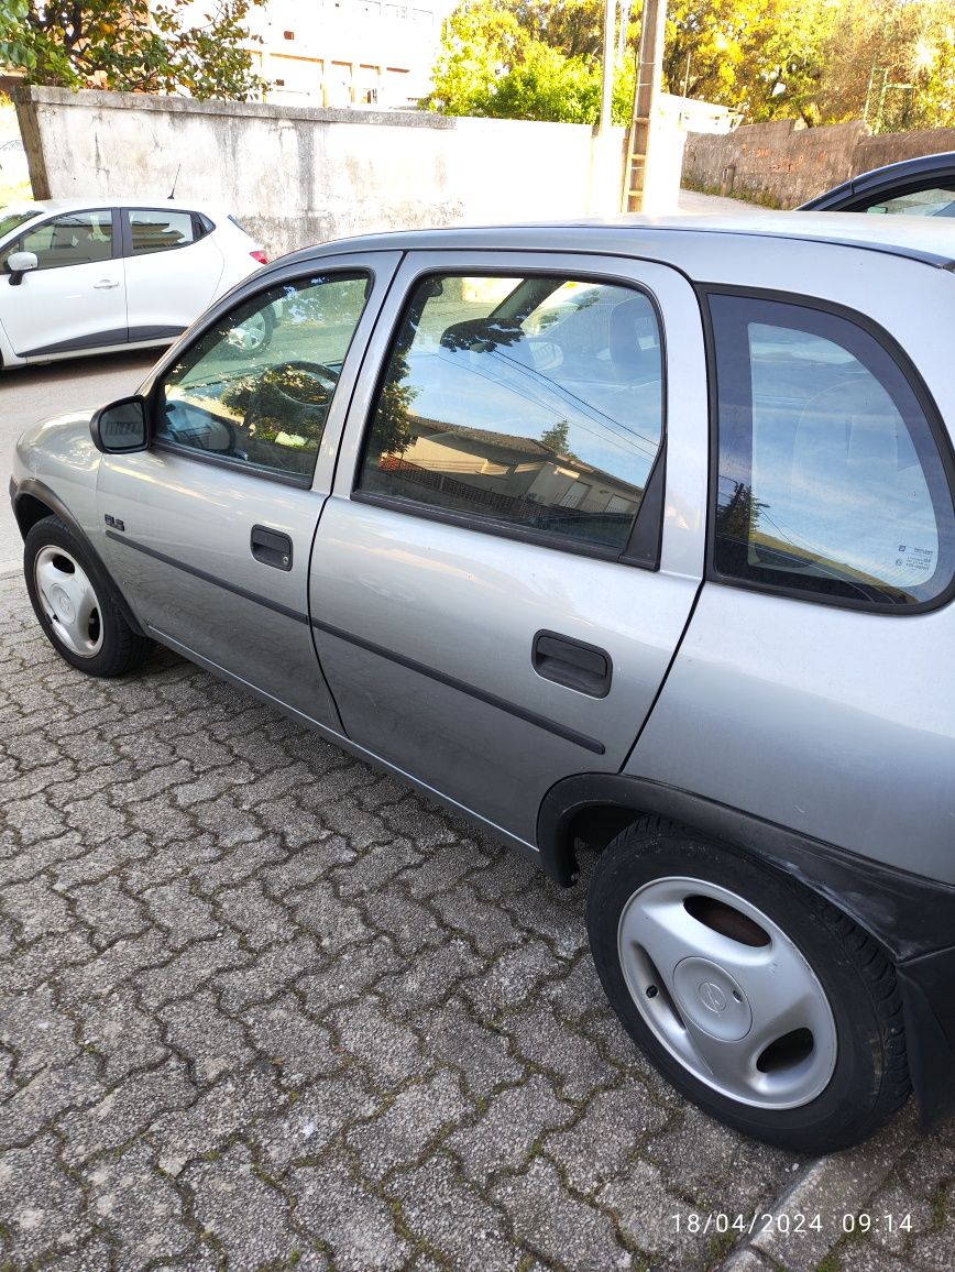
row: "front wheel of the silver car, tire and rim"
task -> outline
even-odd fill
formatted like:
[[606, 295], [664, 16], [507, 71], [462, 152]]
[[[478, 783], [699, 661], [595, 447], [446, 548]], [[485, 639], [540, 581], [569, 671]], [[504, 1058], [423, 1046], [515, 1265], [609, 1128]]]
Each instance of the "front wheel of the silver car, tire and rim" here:
[[[58, 516], [46, 516], [31, 528], [24, 543], [23, 572], [43, 635], [78, 670], [86, 675], [123, 675], [155, 649], [155, 641], [130, 627], [108, 575]], [[61, 586], [60, 595], [51, 600], [57, 577], [65, 588]], [[83, 623], [64, 621], [57, 614], [57, 604], [61, 613], [75, 613], [75, 597], [66, 591], [71, 579], [78, 584], [83, 580], [80, 590], [85, 598], [92, 598], [89, 618]]]

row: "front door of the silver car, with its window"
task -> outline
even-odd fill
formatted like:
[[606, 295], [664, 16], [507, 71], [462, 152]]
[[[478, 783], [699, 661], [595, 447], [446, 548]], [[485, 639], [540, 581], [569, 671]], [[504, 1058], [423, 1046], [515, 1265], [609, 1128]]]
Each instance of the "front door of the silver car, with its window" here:
[[[337, 728], [309, 628], [308, 563], [345, 407], [398, 253], [263, 285], [174, 352], [149, 450], [104, 457], [103, 555], [165, 644]], [[243, 338], [263, 309], [272, 338]]]

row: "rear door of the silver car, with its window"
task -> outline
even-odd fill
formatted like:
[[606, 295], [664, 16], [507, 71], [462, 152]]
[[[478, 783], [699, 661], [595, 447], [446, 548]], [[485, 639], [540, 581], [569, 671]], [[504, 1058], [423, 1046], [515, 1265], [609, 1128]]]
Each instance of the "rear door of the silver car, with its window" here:
[[626, 761], [699, 588], [696, 296], [651, 263], [415, 253], [369, 359], [312, 558], [323, 672], [355, 742], [533, 843], [554, 781]]

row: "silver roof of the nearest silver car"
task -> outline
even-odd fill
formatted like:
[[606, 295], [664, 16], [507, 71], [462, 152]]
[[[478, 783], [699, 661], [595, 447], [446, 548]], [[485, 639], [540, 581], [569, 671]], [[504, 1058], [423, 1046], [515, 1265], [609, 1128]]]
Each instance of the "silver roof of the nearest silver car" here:
[[[905, 224], [898, 224], [904, 220]], [[746, 212], [710, 216], [640, 216], [538, 221], [512, 225], [448, 226], [397, 230], [337, 239], [280, 257], [276, 266], [342, 252], [365, 251], [548, 251], [601, 252], [624, 256], [661, 251], [679, 263], [684, 235], [725, 235], [745, 245], [754, 239], [791, 239], [853, 247], [909, 257], [955, 270], [955, 226], [932, 218], [883, 218], [865, 212]], [[688, 244], [687, 244], [688, 245]], [[726, 243], [730, 247], [730, 243]]]

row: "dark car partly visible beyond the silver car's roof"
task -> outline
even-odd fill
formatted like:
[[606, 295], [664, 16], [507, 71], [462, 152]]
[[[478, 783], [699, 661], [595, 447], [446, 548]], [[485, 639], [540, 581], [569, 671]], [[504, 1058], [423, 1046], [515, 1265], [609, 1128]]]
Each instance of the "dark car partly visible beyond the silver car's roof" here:
[[955, 216], [955, 151], [903, 159], [816, 195], [801, 212]]

